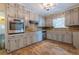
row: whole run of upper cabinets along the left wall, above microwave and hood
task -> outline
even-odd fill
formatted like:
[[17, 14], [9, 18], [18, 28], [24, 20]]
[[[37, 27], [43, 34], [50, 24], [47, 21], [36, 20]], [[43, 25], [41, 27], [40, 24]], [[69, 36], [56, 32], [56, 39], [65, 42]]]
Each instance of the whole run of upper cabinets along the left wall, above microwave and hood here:
[[[2, 5], [1, 5], [2, 6]], [[2, 6], [2, 8], [4, 9], [4, 7]], [[17, 4], [17, 3], [7, 3], [6, 4], [6, 13], [7, 13], [7, 19], [8, 20], [12, 20], [12, 19], [24, 19], [25, 21], [25, 26], [29, 26], [29, 20], [38, 22], [40, 21], [40, 26], [43, 25], [44, 21], [41, 21], [43, 18], [42, 16], [33, 13], [32, 11], [30, 11], [30, 9], [25, 8], [23, 5], [21, 4]], [[42, 22], [42, 24], [41, 24]], [[44, 26], [44, 25], [43, 25]]]

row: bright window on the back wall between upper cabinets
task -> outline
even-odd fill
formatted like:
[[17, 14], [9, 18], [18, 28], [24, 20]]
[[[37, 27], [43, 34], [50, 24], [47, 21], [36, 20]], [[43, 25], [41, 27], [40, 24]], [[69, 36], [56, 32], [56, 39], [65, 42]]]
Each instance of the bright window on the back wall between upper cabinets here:
[[65, 18], [61, 17], [61, 18], [53, 19], [53, 27], [54, 28], [66, 28]]

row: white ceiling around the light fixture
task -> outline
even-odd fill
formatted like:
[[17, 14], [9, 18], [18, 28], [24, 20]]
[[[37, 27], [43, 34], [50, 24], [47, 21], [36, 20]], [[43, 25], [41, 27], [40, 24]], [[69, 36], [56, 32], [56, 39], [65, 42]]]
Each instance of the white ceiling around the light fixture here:
[[41, 3], [23, 3], [26, 9], [30, 9], [34, 13], [40, 14], [42, 16], [47, 16], [50, 14], [64, 12], [65, 10], [78, 7], [79, 3], [57, 3], [56, 6], [52, 7], [49, 11], [45, 10]]

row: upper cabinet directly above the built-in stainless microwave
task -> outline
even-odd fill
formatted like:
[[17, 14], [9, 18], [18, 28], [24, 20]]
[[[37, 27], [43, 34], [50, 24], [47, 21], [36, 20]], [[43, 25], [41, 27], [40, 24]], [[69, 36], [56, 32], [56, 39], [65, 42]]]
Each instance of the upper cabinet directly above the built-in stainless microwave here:
[[7, 16], [12, 18], [24, 18], [24, 6], [16, 3], [7, 4]]

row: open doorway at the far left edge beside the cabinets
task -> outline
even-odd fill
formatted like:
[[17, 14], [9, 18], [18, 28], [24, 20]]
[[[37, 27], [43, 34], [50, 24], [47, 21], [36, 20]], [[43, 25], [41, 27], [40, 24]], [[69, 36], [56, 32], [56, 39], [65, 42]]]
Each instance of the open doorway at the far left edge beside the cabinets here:
[[0, 50], [5, 48], [5, 12], [0, 11]]

